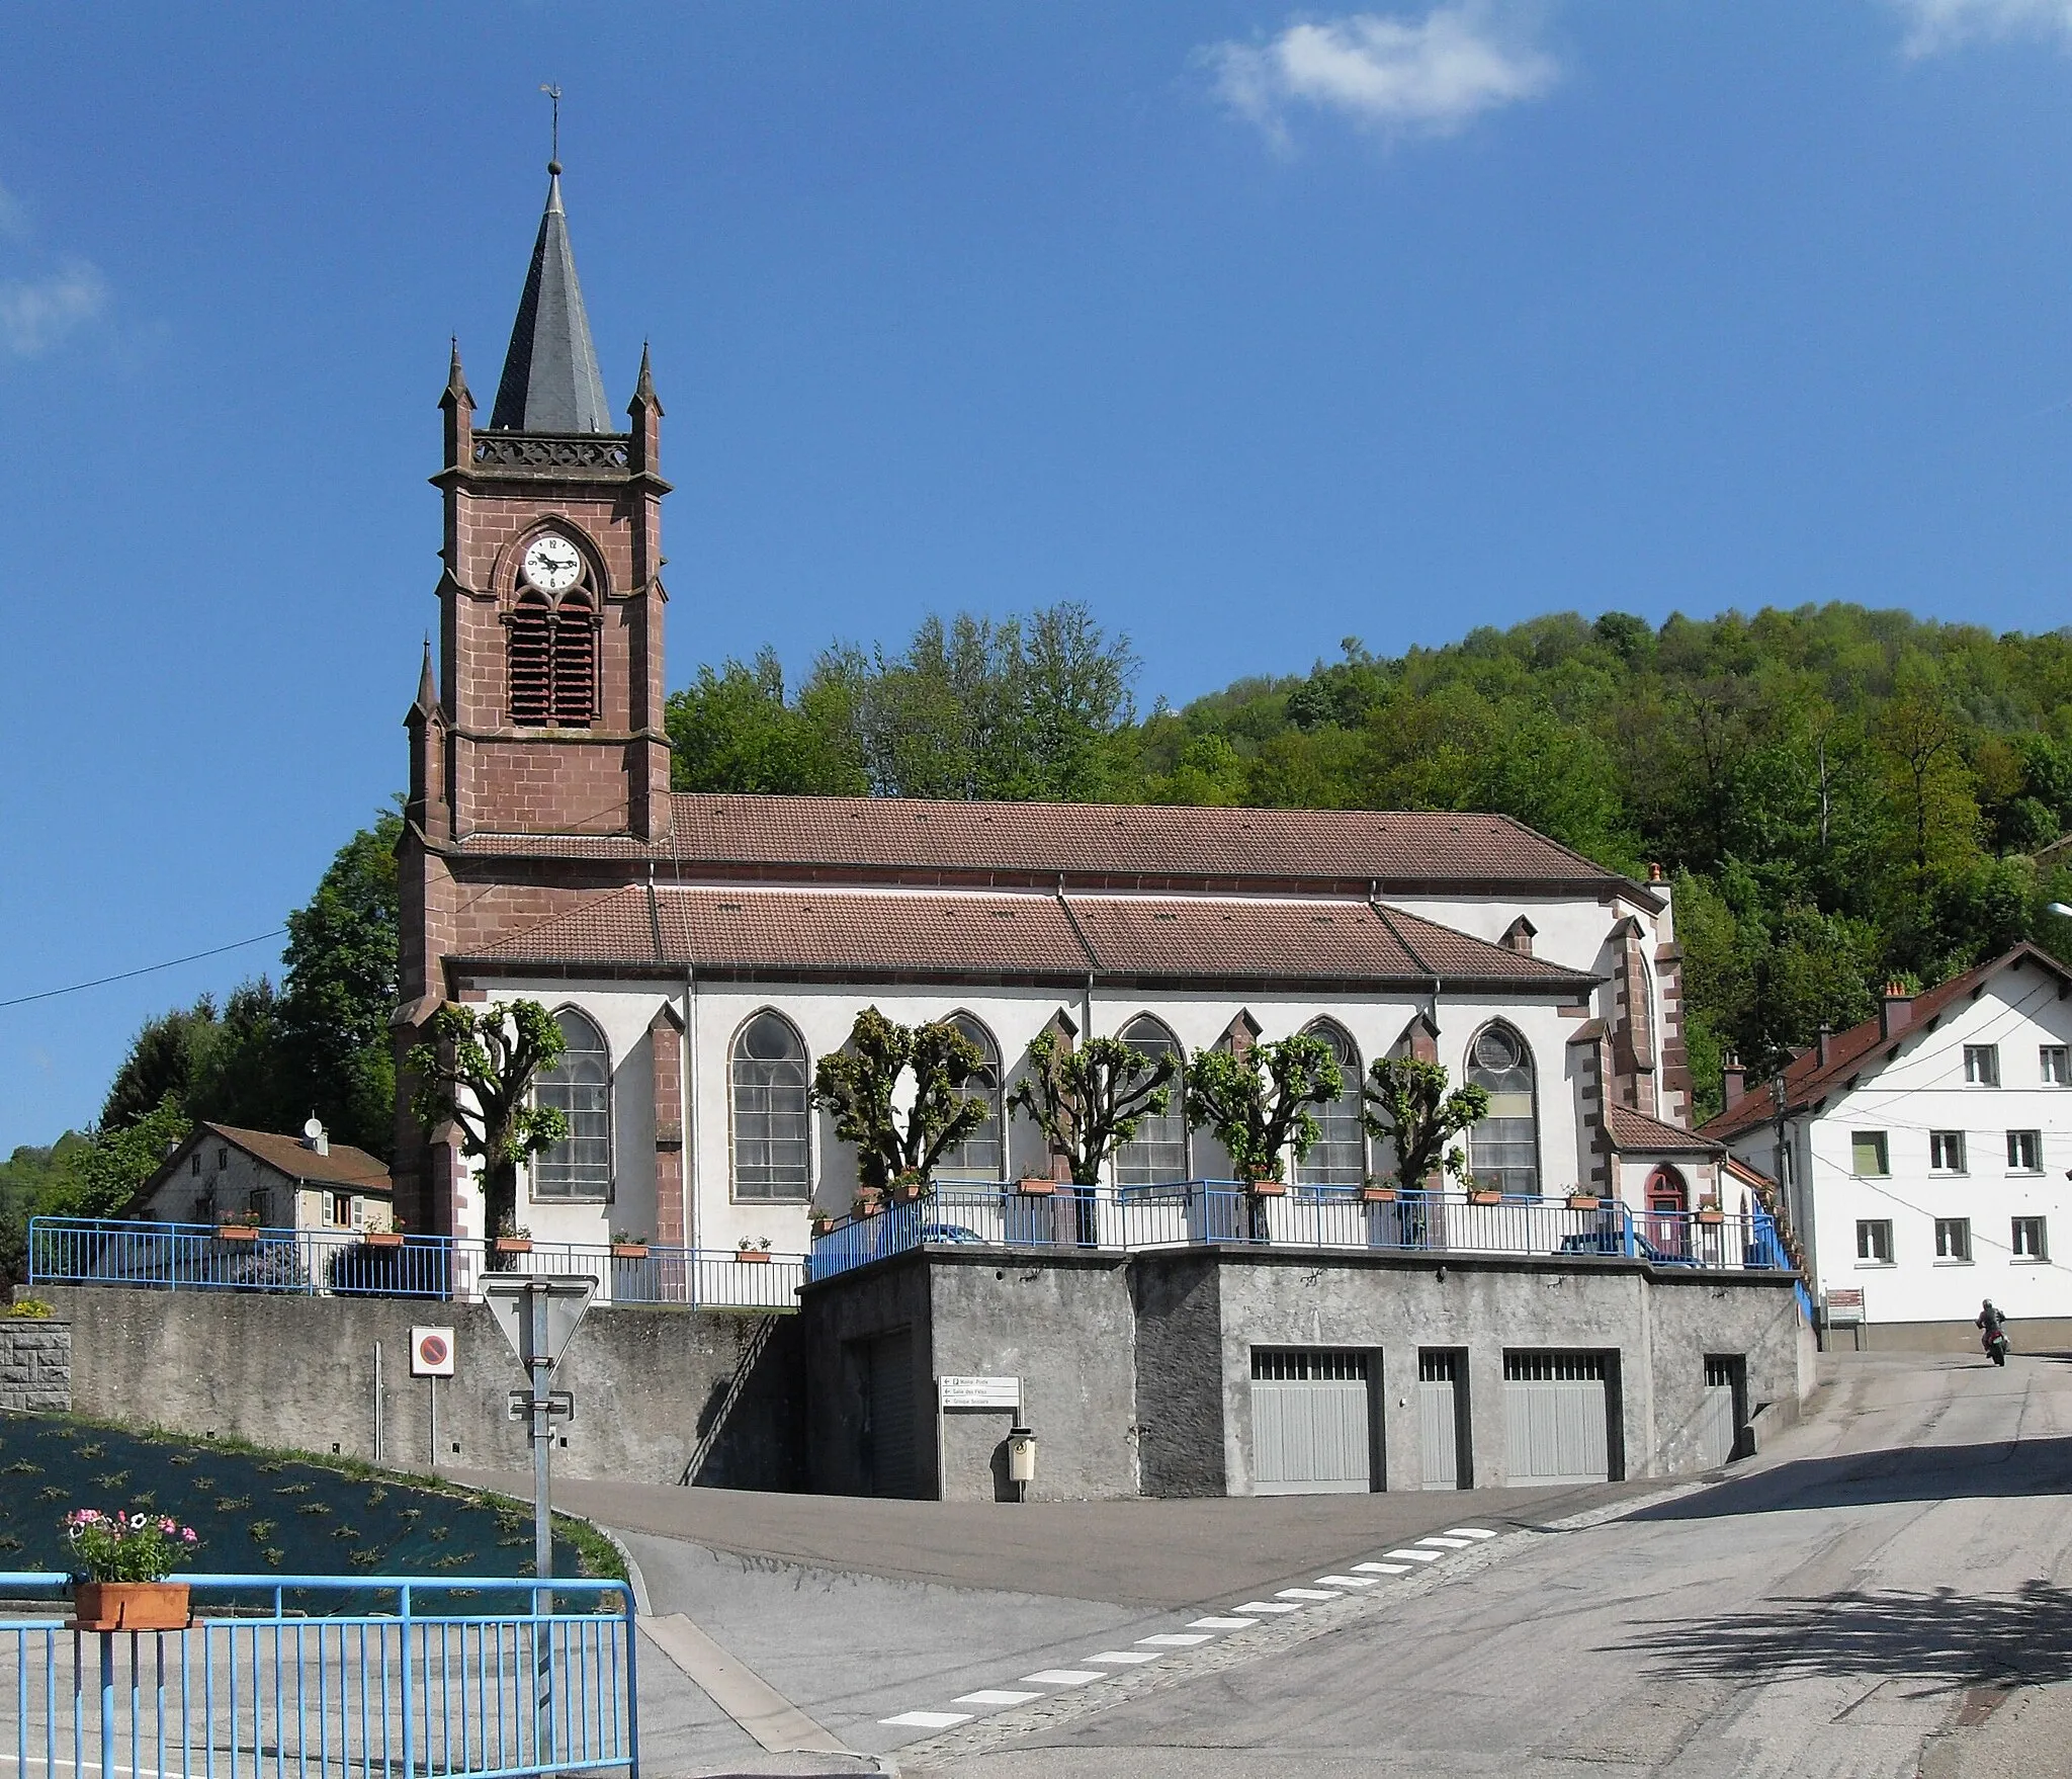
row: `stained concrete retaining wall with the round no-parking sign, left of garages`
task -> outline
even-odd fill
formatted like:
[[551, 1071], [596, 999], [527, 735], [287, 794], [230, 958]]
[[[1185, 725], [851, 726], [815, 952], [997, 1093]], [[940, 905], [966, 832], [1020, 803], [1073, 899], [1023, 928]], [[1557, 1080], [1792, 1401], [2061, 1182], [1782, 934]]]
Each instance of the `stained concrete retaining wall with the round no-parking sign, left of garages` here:
[[[70, 1406], [81, 1414], [373, 1460], [379, 1346], [381, 1462], [530, 1464], [526, 1427], [506, 1418], [508, 1391], [524, 1377], [481, 1304], [39, 1290], [70, 1323]], [[410, 1377], [414, 1325], [454, 1329], [454, 1377]], [[704, 1447], [702, 1485], [804, 1487], [798, 1317], [591, 1310], [555, 1387], [576, 1397], [566, 1445], [553, 1453], [564, 1476], [675, 1482]], [[721, 1414], [729, 1391], [731, 1410]]]

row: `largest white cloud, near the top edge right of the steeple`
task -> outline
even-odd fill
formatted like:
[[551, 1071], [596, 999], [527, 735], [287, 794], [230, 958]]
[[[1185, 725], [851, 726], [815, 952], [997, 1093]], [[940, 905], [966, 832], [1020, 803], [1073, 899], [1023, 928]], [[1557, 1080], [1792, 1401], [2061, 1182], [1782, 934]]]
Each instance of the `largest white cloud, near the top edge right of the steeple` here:
[[1421, 19], [1353, 12], [1289, 25], [1268, 44], [1214, 44], [1202, 60], [1222, 100], [1276, 143], [1295, 106], [1442, 137], [1560, 79], [1531, 39], [1535, 12], [1504, 0], [1444, 0]]

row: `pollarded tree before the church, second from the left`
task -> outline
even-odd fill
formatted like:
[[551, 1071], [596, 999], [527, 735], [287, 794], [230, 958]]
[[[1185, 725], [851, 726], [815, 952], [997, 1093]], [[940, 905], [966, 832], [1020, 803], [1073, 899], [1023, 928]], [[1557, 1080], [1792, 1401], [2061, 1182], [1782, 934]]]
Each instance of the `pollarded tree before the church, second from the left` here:
[[[934, 1163], [986, 1122], [988, 1103], [963, 1093], [986, 1057], [949, 1020], [903, 1026], [864, 1008], [850, 1041], [812, 1070], [812, 1101], [835, 1113], [835, 1136], [856, 1145], [856, 1176], [885, 1190], [895, 1180], [928, 1182]], [[893, 1103], [914, 1076], [905, 1113]]]

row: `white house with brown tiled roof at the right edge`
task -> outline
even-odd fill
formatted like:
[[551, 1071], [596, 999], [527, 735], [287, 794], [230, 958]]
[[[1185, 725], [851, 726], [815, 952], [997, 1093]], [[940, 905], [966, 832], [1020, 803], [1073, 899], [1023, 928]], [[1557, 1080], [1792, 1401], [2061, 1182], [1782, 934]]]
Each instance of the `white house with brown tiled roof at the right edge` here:
[[1836, 1325], [1941, 1344], [1985, 1298], [2072, 1319], [2053, 1250], [2072, 1244], [2068, 1055], [2072, 972], [2016, 945], [1921, 995], [1890, 987], [1772, 1082], [1730, 1070], [1703, 1134], [1778, 1182]]

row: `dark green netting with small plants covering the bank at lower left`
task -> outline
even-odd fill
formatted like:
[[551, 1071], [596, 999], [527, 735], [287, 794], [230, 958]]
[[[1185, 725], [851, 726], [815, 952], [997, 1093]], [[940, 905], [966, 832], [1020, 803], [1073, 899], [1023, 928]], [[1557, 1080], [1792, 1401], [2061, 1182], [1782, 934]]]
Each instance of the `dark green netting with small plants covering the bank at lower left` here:
[[[265, 1451], [126, 1433], [48, 1414], [0, 1418], [0, 1570], [75, 1568], [60, 1520], [73, 1507], [170, 1514], [201, 1536], [184, 1572], [278, 1576], [530, 1576], [533, 1507], [352, 1476]], [[553, 1541], [553, 1568], [580, 1553]], [[178, 1578], [178, 1576], [176, 1576]], [[412, 1611], [522, 1611], [524, 1594], [421, 1594]], [[564, 1603], [582, 1611], [591, 1597]], [[197, 1601], [197, 1611], [271, 1609], [274, 1590]], [[394, 1592], [290, 1588], [288, 1611], [394, 1611]]]

